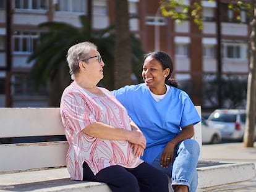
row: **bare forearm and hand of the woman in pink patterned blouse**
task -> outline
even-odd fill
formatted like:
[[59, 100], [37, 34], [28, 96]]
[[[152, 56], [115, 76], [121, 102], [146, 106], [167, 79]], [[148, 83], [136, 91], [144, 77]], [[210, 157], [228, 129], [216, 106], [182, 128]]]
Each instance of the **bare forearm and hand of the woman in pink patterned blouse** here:
[[129, 141], [132, 144], [139, 144], [143, 149], [146, 147], [146, 139], [140, 131], [129, 131], [121, 128], [114, 128], [105, 123], [92, 123], [83, 129], [83, 133], [104, 140]]

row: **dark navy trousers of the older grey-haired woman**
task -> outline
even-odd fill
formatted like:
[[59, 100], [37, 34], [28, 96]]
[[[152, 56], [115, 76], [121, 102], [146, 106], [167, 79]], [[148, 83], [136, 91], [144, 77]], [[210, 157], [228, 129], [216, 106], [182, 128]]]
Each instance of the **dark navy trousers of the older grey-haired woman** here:
[[106, 183], [113, 192], [169, 191], [167, 175], [146, 162], [133, 169], [114, 165], [100, 170], [96, 175], [84, 162], [83, 180]]

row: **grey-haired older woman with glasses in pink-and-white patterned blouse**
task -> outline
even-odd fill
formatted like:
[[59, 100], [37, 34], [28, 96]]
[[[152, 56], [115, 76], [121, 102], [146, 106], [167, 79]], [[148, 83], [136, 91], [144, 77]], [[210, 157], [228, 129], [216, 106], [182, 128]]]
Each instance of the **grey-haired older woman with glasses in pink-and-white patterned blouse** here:
[[112, 191], [168, 191], [168, 177], [140, 159], [146, 146], [142, 132], [113, 94], [96, 86], [105, 64], [95, 44], [70, 47], [67, 62], [74, 81], [60, 108], [70, 178], [104, 182]]

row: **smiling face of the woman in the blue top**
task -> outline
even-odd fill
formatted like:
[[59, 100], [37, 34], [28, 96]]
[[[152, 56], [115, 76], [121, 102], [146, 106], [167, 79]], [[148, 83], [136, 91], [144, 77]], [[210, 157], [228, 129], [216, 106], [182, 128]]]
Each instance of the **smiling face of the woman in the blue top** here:
[[157, 59], [148, 56], [143, 64], [142, 78], [151, 89], [158, 89], [164, 86], [165, 78], [169, 74], [169, 68], [164, 69]]

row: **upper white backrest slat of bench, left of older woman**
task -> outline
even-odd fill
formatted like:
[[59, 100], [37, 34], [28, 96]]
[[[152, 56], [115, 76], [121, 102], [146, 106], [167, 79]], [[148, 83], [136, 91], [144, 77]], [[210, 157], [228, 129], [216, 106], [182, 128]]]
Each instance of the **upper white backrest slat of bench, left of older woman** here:
[[0, 108], [0, 138], [64, 135], [59, 108]]

